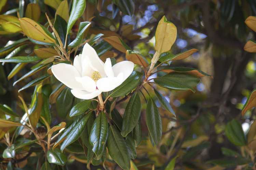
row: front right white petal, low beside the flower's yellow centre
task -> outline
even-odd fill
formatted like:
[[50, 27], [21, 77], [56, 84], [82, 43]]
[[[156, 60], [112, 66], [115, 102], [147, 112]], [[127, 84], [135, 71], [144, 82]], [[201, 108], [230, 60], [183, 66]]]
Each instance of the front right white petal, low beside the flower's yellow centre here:
[[111, 91], [122, 83], [123, 73], [119, 73], [117, 77], [102, 78], [96, 82], [97, 88], [103, 92]]

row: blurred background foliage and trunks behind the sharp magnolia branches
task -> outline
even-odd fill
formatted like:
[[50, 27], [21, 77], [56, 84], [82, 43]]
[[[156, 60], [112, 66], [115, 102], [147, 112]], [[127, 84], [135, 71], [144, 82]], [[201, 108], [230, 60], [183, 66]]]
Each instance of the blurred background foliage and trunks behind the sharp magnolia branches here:
[[[50, 1], [45, 1], [36, 0], [41, 10], [38, 19], [40, 23], [45, 23], [45, 12], [51, 16], [55, 14], [55, 6]], [[256, 39], [256, 34], [244, 23], [248, 16], [256, 15], [256, 0], [119, 1], [132, 5], [126, 10], [122, 5], [113, 5], [110, 0], [88, 0], [85, 12], [77, 23], [91, 20], [89, 36], [98, 33], [104, 34], [103, 37], [119, 36], [131, 49], [144, 55], [150, 62], [154, 54], [157, 23], [165, 15], [177, 27], [177, 39], [171, 52], [177, 54], [192, 48], [199, 50], [185, 60], [173, 61], [171, 65], [198, 68], [213, 76], [203, 77], [195, 94], [189, 90], [170, 91], [158, 87], [176, 114], [174, 119], [166, 110], [160, 110], [163, 136], [158, 146], [153, 147], [147, 138], [144, 113], [146, 103], [142, 104], [144, 140], [137, 148], [137, 158], [134, 160], [138, 169], [152, 169], [152, 165], [156, 169], [163, 169], [176, 156], [176, 169], [255, 169], [256, 144], [249, 145], [246, 136], [251, 127], [251, 133], [256, 134], [256, 128], [251, 126], [256, 119], [256, 111], [253, 108], [241, 116], [241, 109], [256, 85], [255, 55], [243, 49], [247, 40]], [[16, 15], [32, 2], [34, 0], [8, 0], [6, 3], [1, 0], [0, 4], [4, 5], [0, 11], [1, 14]], [[78, 24], [75, 24], [72, 31], [77, 32], [77, 29]], [[0, 35], [2, 49], [13, 41], [24, 38], [19, 33], [3, 33], [1, 28], [0, 34], [5, 34]], [[19, 53], [20, 56], [28, 55], [34, 50], [29, 45], [19, 48], [25, 49]], [[6, 57], [8, 53], [1, 52], [2, 49], [0, 56]], [[13, 48], [10, 51], [12, 50]], [[108, 55], [115, 57], [117, 61], [125, 58], [125, 54], [117, 50], [110, 51]], [[30, 70], [31, 65], [24, 66], [8, 81], [8, 75], [14, 67], [13, 63], [0, 65], [0, 103], [22, 115], [24, 111], [17, 98], [18, 89], [37, 75], [13, 86], [19, 77]], [[154, 93], [149, 87], [147, 90], [150, 94]], [[24, 90], [21, 94], [30, 103], [33, 89]], [[125, 105], [126, 103], [119, 104], [120, 114], [124, 114]], [[51, 113], [52, 125], [63, 120], [57, 115], [54, 105]], [[68, 120], [65, 121], [68, 124]], [[3, 149], [4, 147], [1, 151]], [[79, 157], [73, 156], [67, 165], [70, 169], [84, 169], [81, 162]], [[32, 158], [24, 163], [26, 167], [34, 164], [36, 160]]]

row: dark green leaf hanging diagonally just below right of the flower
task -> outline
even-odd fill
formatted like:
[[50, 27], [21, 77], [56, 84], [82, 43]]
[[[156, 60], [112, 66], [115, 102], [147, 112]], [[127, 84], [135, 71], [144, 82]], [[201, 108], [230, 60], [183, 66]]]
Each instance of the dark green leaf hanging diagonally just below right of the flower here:
[[130, 98], [124, 113], [123, 125], [121, 134], [126, 137], [130, 133], [140, 119], [141, 102], [137, 93], [134, 93]]

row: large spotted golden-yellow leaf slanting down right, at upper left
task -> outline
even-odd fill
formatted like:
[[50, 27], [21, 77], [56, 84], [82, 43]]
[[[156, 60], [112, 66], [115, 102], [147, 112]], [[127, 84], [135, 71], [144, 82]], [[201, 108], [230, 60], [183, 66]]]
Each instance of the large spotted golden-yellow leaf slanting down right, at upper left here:
[[39, 23], [29, 18], [21, 18], [19, 19], [19, 22], [22, 31], [28, 37], [45, 43], [55, 43], [55, 39], [50, 36], [51, 33], [49, 33], [48, 30], [45, 30]]

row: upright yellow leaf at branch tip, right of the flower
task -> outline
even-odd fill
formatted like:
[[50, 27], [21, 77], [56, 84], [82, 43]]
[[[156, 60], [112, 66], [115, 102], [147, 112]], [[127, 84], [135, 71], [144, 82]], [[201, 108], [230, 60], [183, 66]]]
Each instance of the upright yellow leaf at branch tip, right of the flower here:
[[167, 21], [166, 17], [163, 16], [158, 23], [155, 36], [155, 50], [159, 53], [169, 51], [176, 40], [177, 28], [172, 22]]

